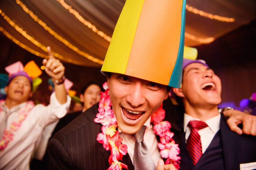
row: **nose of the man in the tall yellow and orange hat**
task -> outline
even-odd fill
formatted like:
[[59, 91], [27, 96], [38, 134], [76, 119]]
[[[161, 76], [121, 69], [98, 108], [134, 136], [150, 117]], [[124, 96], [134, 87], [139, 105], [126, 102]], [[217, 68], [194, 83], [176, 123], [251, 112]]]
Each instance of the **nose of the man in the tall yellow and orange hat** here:
[[127, 94], [127, 102], [130, 103], [132, 107], [138, 107], [140, 105], [143, 105], [146, 102], [144, 90], [145, 89], [140, 83], [132, 85], [129, 93]]

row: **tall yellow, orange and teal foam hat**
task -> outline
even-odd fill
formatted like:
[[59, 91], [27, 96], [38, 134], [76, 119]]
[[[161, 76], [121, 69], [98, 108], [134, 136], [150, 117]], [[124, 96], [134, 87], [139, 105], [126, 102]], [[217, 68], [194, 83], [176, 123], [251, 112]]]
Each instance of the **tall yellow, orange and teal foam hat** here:
[[101, 71], [180, 87], [186, 0], [127, 0]]

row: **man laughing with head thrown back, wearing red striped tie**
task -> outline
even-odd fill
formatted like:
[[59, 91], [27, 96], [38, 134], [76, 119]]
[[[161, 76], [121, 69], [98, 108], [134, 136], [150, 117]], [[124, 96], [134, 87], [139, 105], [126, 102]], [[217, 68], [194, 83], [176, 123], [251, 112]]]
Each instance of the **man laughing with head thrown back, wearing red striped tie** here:
[[[181, 169], [256, 168], [256, 127], [247, 125], [254, 136], [240, 136], [228, 128], [217, 107], [221, 80], [206, 63], [184, 59], [182, 87], [173, 91], [182, 98], [185, 109]], [[251, 118], [255, 122], [255, 117]]]

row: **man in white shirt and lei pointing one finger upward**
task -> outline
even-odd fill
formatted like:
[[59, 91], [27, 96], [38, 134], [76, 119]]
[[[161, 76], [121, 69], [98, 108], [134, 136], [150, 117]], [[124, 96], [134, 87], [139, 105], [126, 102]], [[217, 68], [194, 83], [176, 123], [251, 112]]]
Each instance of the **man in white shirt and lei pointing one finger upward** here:
[[[0, 169], [29, 169], [36, 142], [44, 127], [63, 117], [70, 105], [64, 87], [64, 66], [52, 56], [48, 47], [49, 60], [44, 59], [46, 73], [55, 81], [55, 92], [50, 104], [34, 105], [28, 101], [33, 95], [37, 77], [42, 74], [34, 61], [24, 68], [20, 61], [6, 67], [9, 79], [6, 100], [0, 101]], [[39, 81], [39, 83], [37, 83]]]

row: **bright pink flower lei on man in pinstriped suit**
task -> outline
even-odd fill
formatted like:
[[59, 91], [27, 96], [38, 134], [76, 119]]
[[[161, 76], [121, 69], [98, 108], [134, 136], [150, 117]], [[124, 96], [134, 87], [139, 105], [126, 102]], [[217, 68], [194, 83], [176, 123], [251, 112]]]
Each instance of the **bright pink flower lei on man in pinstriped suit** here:
[[[103, 84], [105, 92], [101, 92], [100, 102], [99, 102], [99, 113], [96, 114], [94, 119], [95, 123], [102, 124], [102, 133], [97, 136], [97, 141], [103, 145], [106, 150], [110, 150], [108, 170], [121, 170], [122, 168], [128, 169], [128, 166], [121, 163], [123, 155], [127, 153], [127, 145], [122, 144], [122, 138], [119, 137], [119, 132], [117, 130], [117, 120], [111, 109], [111, 101], [109, 97], [109, 88], [107, 83]], [[159, 109], [153, 113], [151, 116], [151, 122], [153, 123], [154, 134], [160, 136], [160, 142], [157, 146], [160, 149], [160, 154], [165, 158], [165, 164], [174, 164], [177, 169], [179, 169], [179, 160], [181, 157], [179, 154], [179, 146], [175, 144], [172, 139], [174, 133], [170, 131], [171, 123], [168, 121], [163, 121], [165, 117], [165, 111], [162, 108], [163, 104]]]

